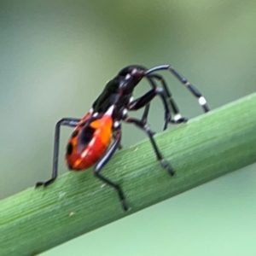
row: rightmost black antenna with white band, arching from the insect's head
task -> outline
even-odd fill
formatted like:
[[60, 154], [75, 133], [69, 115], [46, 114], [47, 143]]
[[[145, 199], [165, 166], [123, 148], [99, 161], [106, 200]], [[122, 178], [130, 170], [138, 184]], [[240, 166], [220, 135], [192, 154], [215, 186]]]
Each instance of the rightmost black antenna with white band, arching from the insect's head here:
[[178, 73], [171, 65], [161, 65], [161, 66], [150, 68], [145, 73], [145, 75], [148, 75], [150, 73], [154, 73], [155, 71], [160, 71], [160, 70], [169, 70], [198, 99], [198, 102], [201, 105], [201, 108], [203, 108], [204, 112], [210, 111], [210, 108], [207, 105], [207, 101], [205, 97], [201, 95], [201, 92], [193, 84], [190, 84], [188, 79], [186, 79], [185, 77], [183, 77], [183, 75]]

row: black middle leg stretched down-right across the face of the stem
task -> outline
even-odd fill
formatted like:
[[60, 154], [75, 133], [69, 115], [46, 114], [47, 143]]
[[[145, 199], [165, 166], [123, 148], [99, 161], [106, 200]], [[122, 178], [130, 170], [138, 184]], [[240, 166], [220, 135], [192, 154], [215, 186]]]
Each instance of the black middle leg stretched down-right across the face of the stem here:
[[[145, 113], [148, 112], [149, 104], [145, 108]], [[172, 167], [166, 162], [166, 160], [163, 158], [162, 154], [160, 153], [160, 149], [158, 148], [157, 144], [154, 141], [154, 132], [150, 130], [146, 118], [139, 120], [135, 118], [130, 118], [128, 116], [125, 117], [124, 121], [126, 123], [131, 123], [136, 125], [138, 128], [142, 129], [145, 131], [149, 137], [149, 140], [154, 148], [154, 153], [156, 155], [157, 160], [160, 161], [160, 165], [166, 169], [166, 171], [173, 176], [175, 172], [172, 170]]]

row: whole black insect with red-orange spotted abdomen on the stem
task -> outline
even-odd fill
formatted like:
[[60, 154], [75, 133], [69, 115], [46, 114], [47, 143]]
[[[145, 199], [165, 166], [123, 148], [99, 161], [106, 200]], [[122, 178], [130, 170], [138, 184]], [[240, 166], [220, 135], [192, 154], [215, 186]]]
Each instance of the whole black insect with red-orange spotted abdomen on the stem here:
[[[95, 165], [95, 176], [116, 189], [125, 211], [128, 206], [125, 202], [125, 195], [119, 184], [113, 183], [107, 177], [102, 176], [102, 168], [108, 163], [113, 153], [120, 148], [121, 141], [121, 121], [136, 125], [148, 135], [154, 148], [154, 153], [160, 165], [173, 176], [175, 172], [164, 160], [160, 149], [154, 141], [154, 132], [150, 130], [147, 119], [149, 104], [154, 96], [160, 96], [165, 110], [166, 129], [169, 123], [178, 124], [186, 122], [178, 111], [177, 104], [172, 98], [172, 93], [167, 87], [166, 80], [157, 71], [169, 70], [189, 91], [197, 97], [199, 104], [205, 112], [209, 111], [207, 101], [201, 92], [190, 84], [181, 74], [177, 73], [170, 65], [161, 65], [147, 69], [146, 67], [132, 65], [123, 68], [117, 76], [106, 84], [102, 94], [93, 103], [89, 113], [83, 119], [61, 119], [55, 125], [55, 144], [53, 157], [52, 177], [46, 182], [38, 182], [36, 187], [48, 186], [55, 181], [58, 169], [58, 154], [61, 126], [67, 125], [75, 127], [68, 143], [66, 152], [66, 162], [70, 170], [81, 171]], [[147, 79], [152, 87], [143, 96], [133, 99], [132, 93], [137, 84], [143, 79]], [[161, 86], [157, 85], [160, 82]], [[135, 119], [128, 116], [129, 111], [144, 108], [142, 119]], [[172, 113], [174, 116], [172, 118]], [[113, 143], [111, 144], [113, 140]]]

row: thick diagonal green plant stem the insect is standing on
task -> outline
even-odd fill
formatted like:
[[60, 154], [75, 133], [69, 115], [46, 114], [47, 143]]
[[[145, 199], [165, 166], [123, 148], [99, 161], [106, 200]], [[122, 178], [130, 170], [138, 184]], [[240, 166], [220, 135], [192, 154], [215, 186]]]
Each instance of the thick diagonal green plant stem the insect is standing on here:
[[91, 170], [0, 201], [0, 255], [34, 255], [256, 161], [256, 93], [155, 136], [177, 175], [155, 160], [148, 140], [119, 151], [104, 175], [120, 184], [131, 211]]

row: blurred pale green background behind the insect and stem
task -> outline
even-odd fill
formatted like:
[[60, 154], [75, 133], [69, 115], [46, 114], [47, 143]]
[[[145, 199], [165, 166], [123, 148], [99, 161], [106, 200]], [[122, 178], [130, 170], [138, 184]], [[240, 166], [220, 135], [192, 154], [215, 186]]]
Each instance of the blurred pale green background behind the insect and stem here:
[[[49, 178], [55, 123], [82, 117], [126, 65], [170, 63], [212, 108], [255, 91], [255, 14], [253, 0], [1, 0], [1, 199]], [[201, 114], [189, 91], [163, 74], [183, 115]], [[139, 86], [136, 95], [146, 89]], [[159, 99], [151, 113], [149, 122], [160, 131]], [[62, 155], [70, 133], [64, 128], [61, 134], [61, 173], [67, 172]], [[125, 125], [125, 147], [144, 137]], [[42, 255], [256, 255], [255, 167]]]

